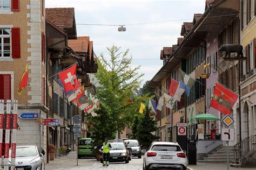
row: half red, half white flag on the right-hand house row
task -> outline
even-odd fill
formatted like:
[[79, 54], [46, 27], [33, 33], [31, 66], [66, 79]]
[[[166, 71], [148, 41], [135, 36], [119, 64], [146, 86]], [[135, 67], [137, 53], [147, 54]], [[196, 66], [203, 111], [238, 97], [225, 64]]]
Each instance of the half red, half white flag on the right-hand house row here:
[[181, 95], [184, 93], [184, 89], [180, 88], [180, 83], [174, 79], [171, 79], [171, 84], [169, 87], [169, 95], [172, 96], [177, 101], [180, 101]]

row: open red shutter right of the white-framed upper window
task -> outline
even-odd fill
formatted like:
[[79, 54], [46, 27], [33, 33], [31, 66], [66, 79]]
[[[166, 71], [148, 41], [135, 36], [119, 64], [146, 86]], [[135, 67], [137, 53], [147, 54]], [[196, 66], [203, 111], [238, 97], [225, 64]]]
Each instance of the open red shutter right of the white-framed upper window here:
[[12, 58], [21, 58], [21, 30], [11, 28], [11, 52]]

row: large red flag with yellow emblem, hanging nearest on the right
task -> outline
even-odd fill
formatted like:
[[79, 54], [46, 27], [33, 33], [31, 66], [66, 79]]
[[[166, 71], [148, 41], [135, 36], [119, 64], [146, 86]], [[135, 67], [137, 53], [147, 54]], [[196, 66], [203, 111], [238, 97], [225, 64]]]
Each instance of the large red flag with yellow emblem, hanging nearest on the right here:
[[224, 115], [230, 115], [235, 102], [237, 102], [237, 98], [237, 94], [216, 83], [211, 107], [217, 109]]

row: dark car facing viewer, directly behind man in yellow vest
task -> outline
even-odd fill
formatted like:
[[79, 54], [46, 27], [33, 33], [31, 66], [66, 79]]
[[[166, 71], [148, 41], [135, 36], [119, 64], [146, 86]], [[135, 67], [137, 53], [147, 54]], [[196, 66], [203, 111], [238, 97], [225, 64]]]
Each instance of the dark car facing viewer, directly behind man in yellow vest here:
[[[126, 164], [129, 163], [131, 160], [130, 150], [127, 149], [123, 142], [120, 143], [110, 143], [110, 162], [125, 162]], [[100, 149], [100, 152], [103, 152], [103, 147]], [[100, 162], [103, 162], [102, 154], [100, 155]]]

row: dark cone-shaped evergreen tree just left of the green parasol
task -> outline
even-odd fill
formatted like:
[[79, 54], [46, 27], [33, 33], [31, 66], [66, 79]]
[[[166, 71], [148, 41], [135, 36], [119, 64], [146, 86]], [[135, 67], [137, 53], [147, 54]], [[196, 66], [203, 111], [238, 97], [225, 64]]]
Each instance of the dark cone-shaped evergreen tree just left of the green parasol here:
[[157, 130], [157, 121], [153, 119], [153, 112], [146, 105], [143, 111], [142, 121], [138, 125], [137, 140], [144, 148], [149, 147], [152, 141], [159, 139], [158, 136], [152, 134]]

